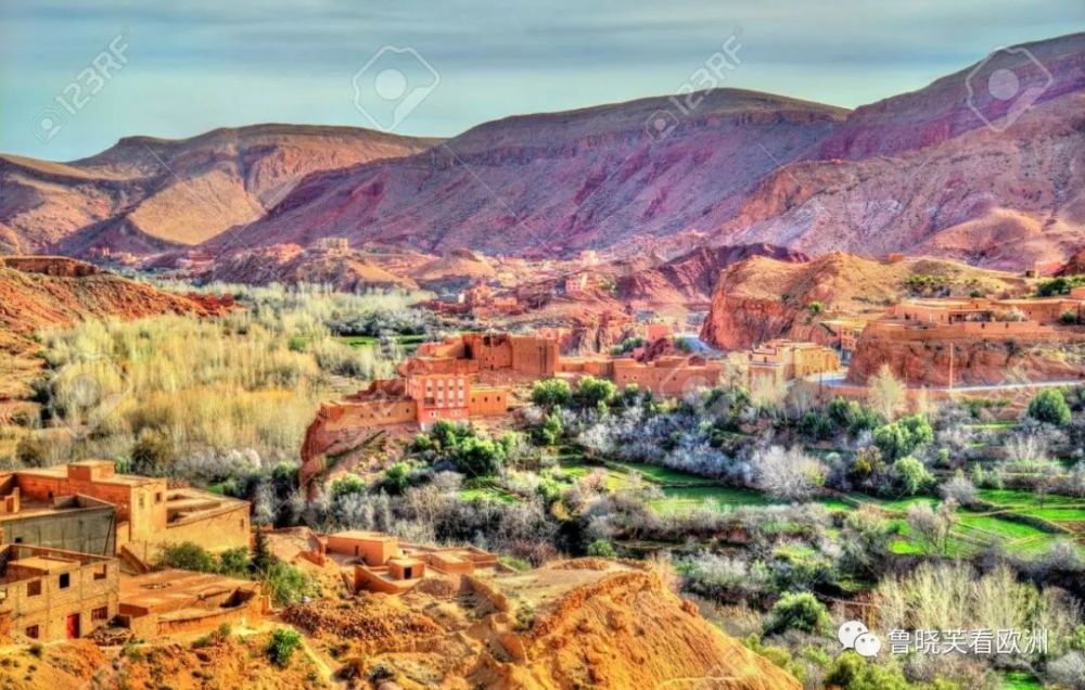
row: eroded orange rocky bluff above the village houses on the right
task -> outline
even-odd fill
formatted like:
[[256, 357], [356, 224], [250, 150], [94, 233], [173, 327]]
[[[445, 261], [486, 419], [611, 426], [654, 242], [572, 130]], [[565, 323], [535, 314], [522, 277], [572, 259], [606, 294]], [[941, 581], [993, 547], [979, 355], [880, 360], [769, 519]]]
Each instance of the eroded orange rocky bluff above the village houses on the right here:
[[[910, 280], [909, 280], [910, 279]], [[701, 337], [742, 349], [773, 337], [818, 341], [832, 318], [877, 318], [903, 296], [1018, 293], [1024, 279], [936, 258], [873, 260], [834, 252], [805, 263], [754, 256], [719, 274]], [[812, 309], [812, 304], [819, 307]]]

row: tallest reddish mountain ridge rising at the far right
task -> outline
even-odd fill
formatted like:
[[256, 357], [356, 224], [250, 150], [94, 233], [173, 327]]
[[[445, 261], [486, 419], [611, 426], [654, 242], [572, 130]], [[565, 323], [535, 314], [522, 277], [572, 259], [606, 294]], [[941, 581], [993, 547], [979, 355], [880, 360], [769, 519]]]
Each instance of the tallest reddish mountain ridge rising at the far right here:
[[[776, 170], [712, 241], [995, 268], [1064, 261], [1085, 244], [1085, 34], [1025, 48], [1050, 81], [1012, 124], [999, 119], [1007, 103], [982, 88], [973, 104], [995, 128], [969, 107], [970, 69], [860, 107], [821, 142], [819, 159]], [[972, 79], [982, 86], [988, 71]]]

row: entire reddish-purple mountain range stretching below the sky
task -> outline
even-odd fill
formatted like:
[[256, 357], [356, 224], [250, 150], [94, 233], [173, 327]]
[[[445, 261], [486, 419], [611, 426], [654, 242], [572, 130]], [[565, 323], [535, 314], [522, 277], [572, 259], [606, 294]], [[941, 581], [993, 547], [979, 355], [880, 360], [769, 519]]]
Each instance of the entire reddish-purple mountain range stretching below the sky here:
[[535, 258], [771, 244], [1061, 263], [1085, 246], [1085, 34], [1003, 52], [1020, 90], [997, 97], [996, 55], [852, 111], [714, 89], [688, 114], [650, 98], [447, 140], [259, 125], [128, 138], [73, 163], [4, 155], [0, 251], [221, 255], [342, 237]]

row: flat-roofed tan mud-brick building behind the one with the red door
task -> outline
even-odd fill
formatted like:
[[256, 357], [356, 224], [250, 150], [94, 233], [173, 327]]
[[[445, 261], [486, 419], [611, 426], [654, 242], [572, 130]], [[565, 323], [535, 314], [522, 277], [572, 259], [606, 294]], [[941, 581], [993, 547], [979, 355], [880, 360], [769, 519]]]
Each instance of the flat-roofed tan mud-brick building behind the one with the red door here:
[[247, 547], [247, 501], [193, 488], [169, 488], [166, 481], [116, 474], [112, 462], [86, 460], [55, 468], [0, 475], [0, 486], [17, 489], [18, 500], [56, 504], [64, 497], [87, 497], [115, 509], [115, 549], [123, 557], [153, 562], [162, 546], [193, 541], [209, 551]]

